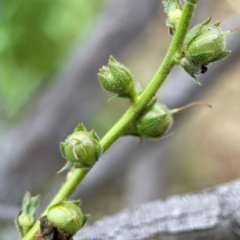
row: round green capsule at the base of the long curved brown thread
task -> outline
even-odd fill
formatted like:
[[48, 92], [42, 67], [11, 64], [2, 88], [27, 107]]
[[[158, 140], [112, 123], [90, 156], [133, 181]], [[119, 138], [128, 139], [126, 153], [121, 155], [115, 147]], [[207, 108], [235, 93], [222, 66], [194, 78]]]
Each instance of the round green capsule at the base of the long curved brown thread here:
[[135, 132], [138, 136], [159, 138], [167, 133], [172, 122], [171, 112], [164, 105], [155, 103], [136, 120]]

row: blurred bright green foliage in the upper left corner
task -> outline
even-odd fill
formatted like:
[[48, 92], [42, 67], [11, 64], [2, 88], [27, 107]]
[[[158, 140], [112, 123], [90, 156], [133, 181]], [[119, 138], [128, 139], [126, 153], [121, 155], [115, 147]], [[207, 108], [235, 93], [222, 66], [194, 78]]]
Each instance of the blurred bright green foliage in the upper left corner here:
[[[8, 0], [0, 13], [0, 111], [21, 112], [52, 79], [68, 49], [81, 39], [104, 0]], [[3, 118], [1, 117], [1, 120]]]

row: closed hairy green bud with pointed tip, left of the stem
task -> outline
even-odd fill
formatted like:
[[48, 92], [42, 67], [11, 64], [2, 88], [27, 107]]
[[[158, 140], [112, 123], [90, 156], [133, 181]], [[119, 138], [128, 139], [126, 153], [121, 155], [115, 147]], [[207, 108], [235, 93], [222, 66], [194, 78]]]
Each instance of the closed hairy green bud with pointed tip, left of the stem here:
[[108, 92], [118, 97], [133, 99], [137, 95], [135, 83], [130, 70], [110, 56], [108, 65], [98, 73], [100, 83]]

